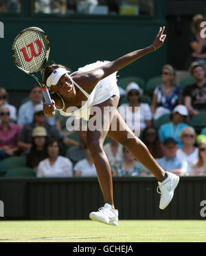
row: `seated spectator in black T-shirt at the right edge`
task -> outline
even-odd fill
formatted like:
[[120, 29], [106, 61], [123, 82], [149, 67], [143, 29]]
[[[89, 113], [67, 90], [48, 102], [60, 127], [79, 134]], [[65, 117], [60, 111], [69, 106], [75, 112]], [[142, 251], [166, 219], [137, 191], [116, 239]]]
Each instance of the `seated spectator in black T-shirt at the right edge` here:
[[201, 63], [193, 62], [190, 65], [190, 74], [194, 76], [196, 83], [188, 85], [184, 90], [185, 106], [190, 115], [206, 111], [206, 79], [205, 68]]

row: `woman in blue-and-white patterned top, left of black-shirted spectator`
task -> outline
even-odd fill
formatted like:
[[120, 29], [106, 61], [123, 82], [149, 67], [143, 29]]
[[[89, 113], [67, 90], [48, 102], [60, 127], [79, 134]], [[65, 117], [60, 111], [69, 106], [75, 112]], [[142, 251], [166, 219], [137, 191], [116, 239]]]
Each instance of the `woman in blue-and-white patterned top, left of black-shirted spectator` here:
[[172, 65], [163, 66], [161, 73], [163, 84], [155, 88], [151, 103], [151, 111], [155, 120], [172, 113], [176, 105], [182, 104], [181, 87], [174, 84], [175, 76], [176, 71]]

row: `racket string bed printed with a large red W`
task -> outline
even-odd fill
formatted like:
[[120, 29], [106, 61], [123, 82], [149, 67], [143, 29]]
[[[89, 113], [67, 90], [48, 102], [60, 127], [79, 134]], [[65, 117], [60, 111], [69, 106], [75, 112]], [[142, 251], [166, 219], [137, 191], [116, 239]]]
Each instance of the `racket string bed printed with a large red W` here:
[[45, 63], [48, 50], [49, 45], [43, 32], [27, 30], [14, 45], [16, 65], [27, 72], [38, 72]]

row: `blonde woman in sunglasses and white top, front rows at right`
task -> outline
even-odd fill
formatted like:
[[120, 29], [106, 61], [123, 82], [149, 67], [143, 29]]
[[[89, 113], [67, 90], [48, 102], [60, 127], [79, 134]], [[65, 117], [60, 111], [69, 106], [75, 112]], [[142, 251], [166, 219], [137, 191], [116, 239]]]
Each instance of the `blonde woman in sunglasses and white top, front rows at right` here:
[[193, 127], [185, 127], [180, 134], [181, 142], [183, 143], [182, 149], [176, 151], [176, 156], [180, 160], [185, 160], [188, 163], [188, 171], [192, 162], [198, 160], [198, 149], [194, 147], [196, 140], [196, 132]]

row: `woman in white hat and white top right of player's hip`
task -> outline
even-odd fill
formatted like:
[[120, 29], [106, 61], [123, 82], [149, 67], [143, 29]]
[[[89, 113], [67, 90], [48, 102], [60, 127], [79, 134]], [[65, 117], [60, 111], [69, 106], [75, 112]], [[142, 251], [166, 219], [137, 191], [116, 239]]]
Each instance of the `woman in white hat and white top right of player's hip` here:
[[150, 106], [146, 103], [141, 103], [140, 101], [142, 94], [143, 91], [139, 88], [137, 83], [129, 83], [126, 87], [128, 103], [123, 104], [118, 108], [119, 114], [125, 120], [128, 127], [138, 135], [139, 131], [150, 126], [152, 122]]

